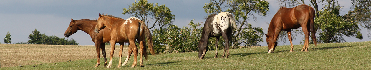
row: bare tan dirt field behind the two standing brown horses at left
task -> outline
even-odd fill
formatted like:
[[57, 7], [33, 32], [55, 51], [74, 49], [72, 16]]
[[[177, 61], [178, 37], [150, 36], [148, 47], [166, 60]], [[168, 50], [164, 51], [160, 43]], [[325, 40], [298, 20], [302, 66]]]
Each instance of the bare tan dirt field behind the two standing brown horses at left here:
[[[119, 46], [116, 45], [114, 57], [118, 57]], [[127, 56], [128, 48], [124, 46], [122, 56]], [[107, 60], [111, 46], [106, 45]], [[20, 45], [0, 44], [0, 67], [32, 65], [42, 63], [67, 62], [68, 60], [96, 59], [95, 46], [76, 45]], [[125, 59], [125, 58], [124, 58]], [[101, 63], [103, 56], [101, 54]]]

